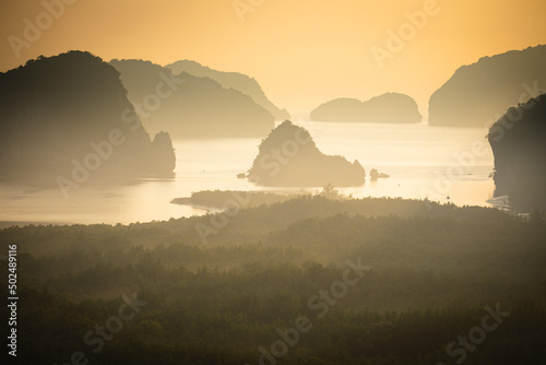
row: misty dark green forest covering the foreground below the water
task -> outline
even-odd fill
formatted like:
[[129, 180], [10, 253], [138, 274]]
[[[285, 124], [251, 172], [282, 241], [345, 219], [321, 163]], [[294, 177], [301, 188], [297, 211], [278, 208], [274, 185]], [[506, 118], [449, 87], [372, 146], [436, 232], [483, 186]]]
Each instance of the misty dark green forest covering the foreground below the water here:
[[[0, 231], [2, 249], [19, 250], [20, 363], [64, 364], [76, 351], [99, 364], [539, 364], [546, 355], [539, 213], [339, 196], [244, 207]], [[458, 338], [487, 315], [495, 330], [463, 351]], [[130, 319], [118, 328], [116, 316]]]

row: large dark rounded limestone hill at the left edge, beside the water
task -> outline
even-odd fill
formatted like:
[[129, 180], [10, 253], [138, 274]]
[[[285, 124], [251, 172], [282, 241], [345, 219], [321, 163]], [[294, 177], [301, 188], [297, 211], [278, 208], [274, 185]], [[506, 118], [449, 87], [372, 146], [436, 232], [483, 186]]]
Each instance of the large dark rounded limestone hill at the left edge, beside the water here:
[[169, 136], [152, 141], [126, 94], [116, 69], [82, 51], [0, 73], [0, 175], [73, 187], [170, 174]]

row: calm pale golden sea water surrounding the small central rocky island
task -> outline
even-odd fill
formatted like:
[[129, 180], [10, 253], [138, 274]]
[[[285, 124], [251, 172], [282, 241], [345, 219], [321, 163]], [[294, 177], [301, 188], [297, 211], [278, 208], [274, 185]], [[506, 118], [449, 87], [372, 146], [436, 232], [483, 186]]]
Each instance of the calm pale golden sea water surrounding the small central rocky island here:
[[[426, 125], [300, 122], [327, 154], [358, 160], [388, 179], [340, 189], [354, 197], [402, 197], [451, 201], [458, 205], [490, 203], [492, 153], [473, 153], [485, 142], [483, 129], [432, 128]], [[126, 186], [86, 186], [64, 199], [57, 188], [0, 185], [0, 221], [34, 223], [131, 223], [204, 214], [171, 204], [174, 198], [200, 190], [280, 190], [254, 186], [236, 175], [247, 172], [260, 139], [174, 141], [177, 167], [173, 179], [141, 179]], [[466, 156], [462, 161], [458, 157]], [[317, 187], [319, 188], [319, 187]], [[300, 189], [282, 189], [299, 191]], [[313, 188], [307, 188], [313, 191]], [[449, 199], [448, 199], [449, 197]], [[5, 225], [5, 223], [4, 223]]]

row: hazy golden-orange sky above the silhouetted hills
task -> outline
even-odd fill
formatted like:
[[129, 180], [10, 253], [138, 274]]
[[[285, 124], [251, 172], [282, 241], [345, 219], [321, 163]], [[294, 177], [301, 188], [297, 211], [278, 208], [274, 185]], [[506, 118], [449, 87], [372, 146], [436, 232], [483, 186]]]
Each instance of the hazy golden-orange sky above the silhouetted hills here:
[[[391, 91], [426, 113], [460, 66], [546, 43], [544, 0], [60, 1], [0, 0], [0, 71], [70, 49], [105, 60], [191, 59], [256, 78], [295, 117], [332, 98]], [[57, 16], [45, 13], [48, 3]], [[412, 25], [407, 14], [417, 11], [428, 14]], [[403, 45], [389, 49], [389, 32], [400, 31]]]

